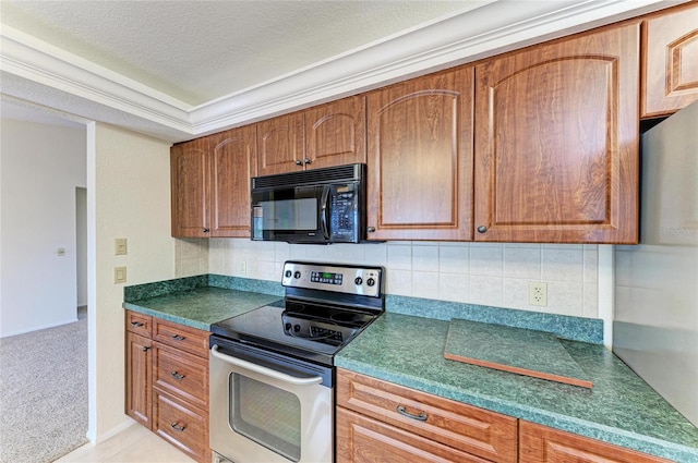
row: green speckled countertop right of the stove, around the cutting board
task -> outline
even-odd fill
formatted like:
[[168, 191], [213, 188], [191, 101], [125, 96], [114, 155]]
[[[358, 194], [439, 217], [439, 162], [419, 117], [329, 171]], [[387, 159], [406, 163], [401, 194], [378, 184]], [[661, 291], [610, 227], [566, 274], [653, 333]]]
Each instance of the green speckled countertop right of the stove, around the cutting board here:
[[444, 358], [448, 321], [386, 313], [338, 367], [678, 462], [698, 462], [698, 428], [603, 345], [559, 340], [591, 390]]

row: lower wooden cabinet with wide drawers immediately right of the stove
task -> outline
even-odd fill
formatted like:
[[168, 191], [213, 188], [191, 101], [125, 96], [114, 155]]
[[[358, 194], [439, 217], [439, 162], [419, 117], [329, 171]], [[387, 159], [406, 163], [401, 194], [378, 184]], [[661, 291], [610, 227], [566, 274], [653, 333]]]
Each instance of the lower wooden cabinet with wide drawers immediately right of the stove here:
[[516, 462], [517, 419], [337, 370], [337, 463]]

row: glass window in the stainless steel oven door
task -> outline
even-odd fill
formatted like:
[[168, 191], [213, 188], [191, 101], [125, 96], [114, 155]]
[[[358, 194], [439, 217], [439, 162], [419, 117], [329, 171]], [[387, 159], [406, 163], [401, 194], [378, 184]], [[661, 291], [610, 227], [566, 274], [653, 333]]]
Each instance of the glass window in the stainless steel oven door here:
[[301, 403], [298, 397], [233, 373], [228, 419], [238, 434], [298, 462], [301, 458]]

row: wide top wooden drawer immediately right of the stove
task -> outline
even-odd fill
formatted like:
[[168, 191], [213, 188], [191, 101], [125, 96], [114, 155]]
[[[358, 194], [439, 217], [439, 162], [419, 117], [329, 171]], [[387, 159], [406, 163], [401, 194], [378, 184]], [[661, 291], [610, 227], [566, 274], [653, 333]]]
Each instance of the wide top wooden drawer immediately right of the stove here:
[[337, 405], [488, 460], [517, 461], [518, 424], [510, 416], [342, 369]]

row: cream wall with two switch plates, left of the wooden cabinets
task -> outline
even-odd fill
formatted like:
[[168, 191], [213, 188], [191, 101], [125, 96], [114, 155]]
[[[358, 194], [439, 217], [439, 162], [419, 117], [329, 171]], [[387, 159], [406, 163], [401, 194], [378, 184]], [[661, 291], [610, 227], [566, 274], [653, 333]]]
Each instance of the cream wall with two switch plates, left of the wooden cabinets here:
[[[87, 126], [89, 429], [99, 442], [131, 423], [124, 414], [123, 284], [113, 267], [127, 266], [127, 284], [174, 277], [170, 236], [170, 145], [91, 123]], [[125, 237], [129, 254], [115, 256]]]

